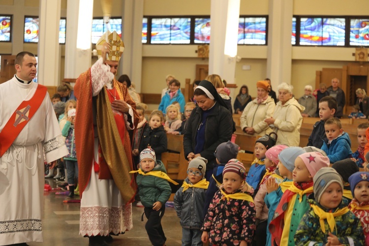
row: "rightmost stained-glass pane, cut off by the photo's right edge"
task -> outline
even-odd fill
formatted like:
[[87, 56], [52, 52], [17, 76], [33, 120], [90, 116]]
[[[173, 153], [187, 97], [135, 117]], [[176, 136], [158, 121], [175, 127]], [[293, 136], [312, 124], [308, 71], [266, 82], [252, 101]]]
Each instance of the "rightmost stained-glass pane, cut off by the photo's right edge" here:
[[350, 45], [369, 46], [369, 19], [350, 19]]

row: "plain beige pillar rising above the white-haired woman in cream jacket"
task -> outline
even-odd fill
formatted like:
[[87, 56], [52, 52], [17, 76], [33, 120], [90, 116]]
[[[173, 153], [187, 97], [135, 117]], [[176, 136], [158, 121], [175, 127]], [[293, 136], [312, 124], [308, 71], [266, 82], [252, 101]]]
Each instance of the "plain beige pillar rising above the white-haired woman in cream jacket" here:
[[269, 0], [267, 77], [291, 84], [293, 0]]

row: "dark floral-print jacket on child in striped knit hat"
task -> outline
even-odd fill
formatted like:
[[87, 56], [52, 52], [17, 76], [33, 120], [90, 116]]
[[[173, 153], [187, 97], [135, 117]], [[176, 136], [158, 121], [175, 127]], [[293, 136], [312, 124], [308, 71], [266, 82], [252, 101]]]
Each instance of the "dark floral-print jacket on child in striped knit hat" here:
[[[235, 192], [241, 192], [236, 190]], [[211, 245], [251, 245], [255, 230], [255, 205], [240, 199], [222, 199], [216, 191], [205, 216], [202, 231], [207, 231]]]

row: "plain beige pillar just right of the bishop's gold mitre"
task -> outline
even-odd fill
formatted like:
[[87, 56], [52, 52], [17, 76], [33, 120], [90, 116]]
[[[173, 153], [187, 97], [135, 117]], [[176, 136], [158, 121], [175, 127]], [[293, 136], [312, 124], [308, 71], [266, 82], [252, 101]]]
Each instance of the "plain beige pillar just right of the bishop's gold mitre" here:
[[123, 0], [122, 40], [124, 52], [119, 64], [118, 76], [127, 74], [141, 92], [142, 74], [142, 18], [144, 0]]

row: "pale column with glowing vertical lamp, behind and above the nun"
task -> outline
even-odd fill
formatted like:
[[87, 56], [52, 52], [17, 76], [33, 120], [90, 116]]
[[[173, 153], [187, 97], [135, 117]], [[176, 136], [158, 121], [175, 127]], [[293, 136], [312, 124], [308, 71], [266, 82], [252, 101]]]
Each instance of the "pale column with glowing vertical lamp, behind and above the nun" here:
[[[234, 29], [236, 31], [229, 32], [232, 27], [227, 27], [227, 16], [237, 18], [237, 24], [234, 24], [237, 28]], [[236, 40], [230, 41], [230, 44], [226, 44], [228, 41], [226, 38], [238, 34], [239, 16], [240, 0], [211, 1], [210, 21], [212, 31], [210, 33], [209, 74], [218, 74], [229, 84], [235, 82], [237, 37]], [[231, 45], [235, 45], [232, 54], [224, 50], [224, 48], [229, 48]]]

